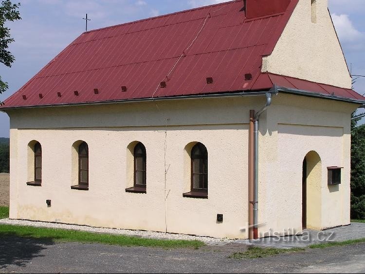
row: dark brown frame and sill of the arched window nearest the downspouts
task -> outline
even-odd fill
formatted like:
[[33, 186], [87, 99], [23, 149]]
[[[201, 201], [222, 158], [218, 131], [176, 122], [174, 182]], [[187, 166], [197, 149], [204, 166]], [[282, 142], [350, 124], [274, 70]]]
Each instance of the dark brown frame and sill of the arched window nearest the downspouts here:
[[[195, 150], [199, 150], [199, 155], [195, 154]], [[197, 143], [193, 146], [190, 153], [190, 170], [191, 170], [191, 177], [190, 177], [190, 192], [184, 193], [184, 197], [189, 198], [208, 198], [208, 151], [207, 148], [202, 143]], [[202, 173], [195, 173], [194, 172], [194, 160], [200, 159], [200, 164], [202, 167], [199, 170], [202, 170]], [[205, 172], [206, 171], [206, 172]], [[199, 182], [199, 185], [202, 184], [202, 188], [194, 188], [194, 176], [201, 176], [203, 175], [203, 180]], [[206, 187], [205, 187], [206, 184]]]

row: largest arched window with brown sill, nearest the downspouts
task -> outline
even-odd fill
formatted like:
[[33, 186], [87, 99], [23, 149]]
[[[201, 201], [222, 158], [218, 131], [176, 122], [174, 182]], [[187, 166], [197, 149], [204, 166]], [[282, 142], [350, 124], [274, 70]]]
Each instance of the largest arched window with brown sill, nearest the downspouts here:
[[208, 197], [208, 151], [202, 143], [191, 149], [191, 192], [184, 197]]

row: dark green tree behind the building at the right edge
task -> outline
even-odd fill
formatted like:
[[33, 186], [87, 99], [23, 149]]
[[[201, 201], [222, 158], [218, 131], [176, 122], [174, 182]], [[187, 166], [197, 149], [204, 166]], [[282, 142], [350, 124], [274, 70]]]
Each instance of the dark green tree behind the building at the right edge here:
[[365, 219], [365, 125], [351, 123], [351, 218]]

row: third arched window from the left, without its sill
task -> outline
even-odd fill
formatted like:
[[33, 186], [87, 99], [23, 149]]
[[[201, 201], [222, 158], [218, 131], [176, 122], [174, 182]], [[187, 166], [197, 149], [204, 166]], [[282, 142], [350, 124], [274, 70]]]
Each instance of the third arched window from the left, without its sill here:
[[146, 189], [146, 147], [142, 143], [134, 148], [134, 187]]

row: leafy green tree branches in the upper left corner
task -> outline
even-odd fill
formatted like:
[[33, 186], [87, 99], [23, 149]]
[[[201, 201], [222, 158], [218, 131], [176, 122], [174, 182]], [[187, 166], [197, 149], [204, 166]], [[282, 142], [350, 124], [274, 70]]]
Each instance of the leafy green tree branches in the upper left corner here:
[[[11, 67], [15, 57], [8, 51], [9, 44], [14, 42], [10, 37], [10, 29], [5, 26], [7, 21], [20, 20], [18, 11], [20, 3], [13, 4], [10, 0], [1, 1], [0, 5], [0, 62]], [[8, 83], [2, 81], [0, 76], [0, 94], [8, 89]]]

